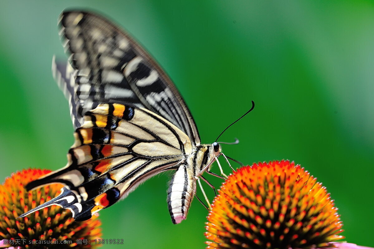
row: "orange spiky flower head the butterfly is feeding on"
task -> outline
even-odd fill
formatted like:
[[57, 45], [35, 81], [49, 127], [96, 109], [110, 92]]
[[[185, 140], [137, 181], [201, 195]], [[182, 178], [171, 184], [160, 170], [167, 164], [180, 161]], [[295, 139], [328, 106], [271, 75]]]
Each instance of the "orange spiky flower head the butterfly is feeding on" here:
[[238, 169], [223, 183], [206, 223], [207, 248], [324, 248], [344, 237], [334, 201], [300, 165]]

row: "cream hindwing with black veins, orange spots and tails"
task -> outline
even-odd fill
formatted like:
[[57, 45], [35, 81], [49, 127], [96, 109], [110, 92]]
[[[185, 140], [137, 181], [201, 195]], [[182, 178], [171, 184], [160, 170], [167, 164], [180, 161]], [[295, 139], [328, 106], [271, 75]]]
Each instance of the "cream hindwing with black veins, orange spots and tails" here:
[[105, 103], [83, 118], [67, 166], [26, 186], [62, 183], [62, 193], [20, 217], [59, 205], [70, 209], [76, 221], [87, 220], [153, 175], [178, 168], [192, 150], [183, 131], [144, 108]]

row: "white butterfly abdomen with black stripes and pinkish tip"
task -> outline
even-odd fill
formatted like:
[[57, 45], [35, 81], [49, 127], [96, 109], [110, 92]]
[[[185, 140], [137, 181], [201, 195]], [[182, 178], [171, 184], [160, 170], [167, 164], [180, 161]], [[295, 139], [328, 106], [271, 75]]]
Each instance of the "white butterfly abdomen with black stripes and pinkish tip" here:
[[186, 220], [194, 193], [196, 193], [196, 180], [191, 169], [182, 164], [175, 172], [168, 190], [169, 212], [174, 224]]

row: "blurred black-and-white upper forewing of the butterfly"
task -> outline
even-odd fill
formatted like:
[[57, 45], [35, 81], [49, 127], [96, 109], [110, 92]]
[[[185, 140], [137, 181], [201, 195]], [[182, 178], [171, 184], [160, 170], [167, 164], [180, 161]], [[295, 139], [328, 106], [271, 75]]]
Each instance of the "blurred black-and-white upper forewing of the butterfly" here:
[[[63, 12], [60, 35], [74, 71], [71, 113], [82, 124], [99, 103], [129, 103], [154, 112], [200, 144], [193, 118], [174, 84], [125, 31], [87, 12]], [[68, 97], [69, 98], [69, 97]]]

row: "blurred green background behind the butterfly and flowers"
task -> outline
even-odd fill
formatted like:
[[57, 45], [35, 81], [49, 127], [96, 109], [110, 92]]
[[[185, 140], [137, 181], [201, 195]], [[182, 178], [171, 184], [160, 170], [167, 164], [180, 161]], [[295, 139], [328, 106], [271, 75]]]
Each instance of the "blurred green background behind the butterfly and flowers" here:
[[[204, 143], [254, 100], [221, 137], [240, 139], [224, 152], [245, 164], [301, 164], [331, 192], [347, 241], [374, 246], [373, 3], [1, 1], [0, 179], [66, 164], [73, 127], [50, 67], [53, 54], [65, 58], [56, 23], [67, 7], [99, 10], [133, 34], [174, 80]], [[205, 247], [207, 212], [196, 199], [186, 221], [171, 223], [169, 179], [100, 212], [103, 237], [126, 242], [104, 248]]]

